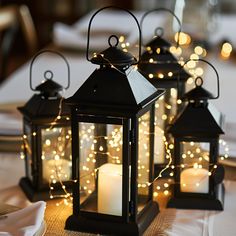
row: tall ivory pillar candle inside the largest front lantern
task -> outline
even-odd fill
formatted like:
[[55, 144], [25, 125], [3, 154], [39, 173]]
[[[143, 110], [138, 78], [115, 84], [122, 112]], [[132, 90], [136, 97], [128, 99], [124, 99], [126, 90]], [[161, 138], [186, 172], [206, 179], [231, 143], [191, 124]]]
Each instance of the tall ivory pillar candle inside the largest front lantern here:
[[122, 165], [107, 163], [99, 168], [98, 212], [122, 215]]

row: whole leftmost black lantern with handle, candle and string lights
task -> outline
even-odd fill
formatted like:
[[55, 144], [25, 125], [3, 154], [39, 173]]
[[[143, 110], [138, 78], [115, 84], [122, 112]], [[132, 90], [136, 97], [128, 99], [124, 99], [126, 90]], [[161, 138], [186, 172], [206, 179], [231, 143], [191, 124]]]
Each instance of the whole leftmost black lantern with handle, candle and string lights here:
[[[44, 50], [37, 53], [30, 64], [30, 88], [37, 91], [18, 109], [23, 114], [23, 141], [26, 177], [20, 186], [31, 201], [69, 197], [66, 187], [71, 185], [71, 128], [70, 109], [60, 95], [61, 85], [52, 80], [53, 72], [44, 72], [44, 81], [33, 88], [32, 68], [42, 53], [54, 53], [65, 62], [70, 84], [69, 64], [58, 52]], [[62, 195], [61, 195], [62, 194]]]

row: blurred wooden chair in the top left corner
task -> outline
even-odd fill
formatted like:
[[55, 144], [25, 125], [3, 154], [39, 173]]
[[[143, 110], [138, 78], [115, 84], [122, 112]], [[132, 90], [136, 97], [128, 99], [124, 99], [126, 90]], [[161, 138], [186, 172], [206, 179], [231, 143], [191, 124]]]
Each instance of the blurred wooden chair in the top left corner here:
[[[17, 40], [17, 33], [21, 31], [26, 43], [27, 53], [21, 55], [22, 58], [32, 56], [38, 49], [37, 34], [34, 23], [25, 5], [10, 5], [0, 7], [0, 83], [9, 72], [16, 67], [20, 57], [12, 57], [13, 43]], [[14, 66], [10, 66], [14, 63]], [[20, 64], [20, 62], [18, 63]], [[11, 67], [11, 68], [10, 68]]]

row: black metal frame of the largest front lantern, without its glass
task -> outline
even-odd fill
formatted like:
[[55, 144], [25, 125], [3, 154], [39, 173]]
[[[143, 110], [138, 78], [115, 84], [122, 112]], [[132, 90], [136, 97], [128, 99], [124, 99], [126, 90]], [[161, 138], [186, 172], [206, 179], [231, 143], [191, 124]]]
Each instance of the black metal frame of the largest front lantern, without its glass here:
[[[135, 102], [135, 105], [134, 102], [129, 103], [126, 89], [128, 88], [130, 92], [130, 85], [127, 86], [127, 88], [123, 88], [122, 98], [119, 97], [119, 99], [117, 99], [117, 93], [113, 90], [122, 90], [122, 86], [119, 85], [119, 81], [126, 81], [132, 71], [127, 74], [125, 72], [130, 65], [138, 63], [138, 61], [131, 54], [126, 54], [116, 48], [118, 44], [117, 36], [112, 35], [109, 38], [109, 49], [106, 49], [104, 52], [96, 55], [96, 57], [92, 59], [88, 57], [90, 27], [92, 20], [96, 14], [108, 8], [124, 10], [130, 14], [136, 21], [139, 34], [141, 35], [136, 17], [130, 11], [123, 8], [113, 6], [104, 7], [96, 11], [90, 19], [86, 55], [87, 60], [94, 64], [100, 65], [100, 69], [95, 70], [79, 88], [79, 90], [72, 97], [67, 99], [67, 103], [71, 106], [72, 175], [75, 181], [73, 187], [73, 214], [67, 219], [65, 229], [103, 234], [141, 235], [159, 212], [159, 207], [157, 202], [153, 201], [153, 189], [151, 184], [148, 186], [147, 201], [145, 202], [143, 209], [138, 212], [138, 119], [146, 112], [150, 112], [149, 145], [151, 153], [150, 157], [148, 157], [150, 168], [148, 175], [149, 182], [151, 182], [153, 180], [154, 102], [159, 96], [161, 96], [163, 90], [155, 89], [150, 83], [148, 83], [148, 81], [145, 80], [145, 83], [147, 82], [148, 86], [153, 88], [153, 92], [140, 103], [137, 104], [137, 102]], [[113, 37], [117, 39], [114, 46], [111, 45], [110, 41]], [[141, 37], [139, 38], [139, 43], [141, 43]], [[114, 82], [110, 82], [111, 77]], [[119, 81], [117, 81], [117, 78]], [[102, 84], [104, 84], [104, 86], [101, 86]], [[115, 88], [116, 85], [118, 88]], [[110, 90], [109, 92], [108, 89]], [[143, 89], [145, 90], [146, 87], [144, 86]], [[114, 96], [113, 92], [115, 93]], [[99, 93], [101, 98], [92, 98], [93, 93]], [[79, 122], [93, 124], [118, 124], [122, 126], [123, 174], [121, 216], [91, 212], [81, 209], [79, 180], [80, 153], [78, 148], [78, 143], [80, 141], [78, 134]], [[129, 184], [129, 178], [131, 179], [131, 184]]]

